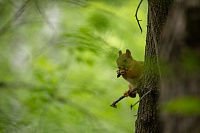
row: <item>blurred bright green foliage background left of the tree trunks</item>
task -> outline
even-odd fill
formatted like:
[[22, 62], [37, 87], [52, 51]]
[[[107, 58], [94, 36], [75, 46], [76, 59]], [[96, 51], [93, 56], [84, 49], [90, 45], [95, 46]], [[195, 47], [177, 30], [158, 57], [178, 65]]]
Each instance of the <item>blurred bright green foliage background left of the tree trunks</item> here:
[[128, 89], [118, 51], [143, 60], [147, 3], [1, 0], [0, 132], [133, 132], [138, 100], [110, 104]]

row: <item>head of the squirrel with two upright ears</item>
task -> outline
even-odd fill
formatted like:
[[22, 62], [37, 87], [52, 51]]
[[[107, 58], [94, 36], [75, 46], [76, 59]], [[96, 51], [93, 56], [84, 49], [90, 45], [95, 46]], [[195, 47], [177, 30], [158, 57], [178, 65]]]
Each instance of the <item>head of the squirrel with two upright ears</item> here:
[[131, 56], [131, 51], [126, 50], [126, 53], [122, 54], [122, 51], [119, 51], [119, 57], [117, 59], [117, 65], [119, 70], [127, 70], [128, 68], [132, 67], [133, 64], [133, 57]]

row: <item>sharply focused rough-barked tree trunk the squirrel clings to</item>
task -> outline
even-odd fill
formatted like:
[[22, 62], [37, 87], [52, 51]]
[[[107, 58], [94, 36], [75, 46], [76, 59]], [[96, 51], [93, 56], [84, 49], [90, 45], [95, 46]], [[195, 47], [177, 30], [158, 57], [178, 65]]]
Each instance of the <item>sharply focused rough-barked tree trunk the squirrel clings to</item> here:
[[160, 133], [158, 99], [160, 93], [160, 75], [158, 70], [158, 48], [166, 18], [173, 0], [149, 0], [148, 24], [145, 48], [144, 76], [138, 86], [138, 94], [145, 97], [140, 101], [136, 133]]

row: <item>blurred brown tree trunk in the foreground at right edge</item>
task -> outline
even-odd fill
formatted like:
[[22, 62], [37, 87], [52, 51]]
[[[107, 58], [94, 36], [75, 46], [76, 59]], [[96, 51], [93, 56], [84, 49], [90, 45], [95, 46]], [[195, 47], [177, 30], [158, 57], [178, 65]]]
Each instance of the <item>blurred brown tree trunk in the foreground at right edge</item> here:
[[[200, 1], [177, 0], [175, 5], [160, 51], [162, 103], [200, 98]], [[199, 112], [166, 111], [161, 119], [163, 133], [200, 133]]]

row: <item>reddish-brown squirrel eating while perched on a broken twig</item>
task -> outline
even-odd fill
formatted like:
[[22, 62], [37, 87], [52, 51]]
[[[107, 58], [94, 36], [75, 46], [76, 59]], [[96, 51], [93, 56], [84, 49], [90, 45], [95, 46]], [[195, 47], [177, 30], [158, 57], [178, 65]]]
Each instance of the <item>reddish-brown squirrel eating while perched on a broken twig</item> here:
[[124, 96], [130, 96], [131, 98], [136, 97], [136, 91], [131, 92], [134, 87], [137, 87], [138, 81], [143, 76], [143, 61], [136, 61], [132, 56], [129, 49], [126, 50], [126, 53], [122, 54], [122, 51], [119, 51], [119, 57], [117, 59], [117, 78], [121, 75], [128, 81], [129, 90], [124, 93]]

